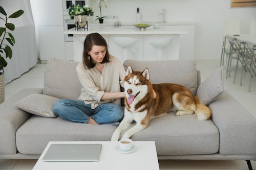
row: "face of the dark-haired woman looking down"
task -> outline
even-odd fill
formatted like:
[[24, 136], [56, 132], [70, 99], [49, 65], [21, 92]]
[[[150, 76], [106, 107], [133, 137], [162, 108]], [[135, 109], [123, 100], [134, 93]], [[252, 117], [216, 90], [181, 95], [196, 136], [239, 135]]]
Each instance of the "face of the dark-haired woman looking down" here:
[[101, 63], [106, 55], [106, 47], [93, 45], [92, 50], [88, 54], [94, 63]]

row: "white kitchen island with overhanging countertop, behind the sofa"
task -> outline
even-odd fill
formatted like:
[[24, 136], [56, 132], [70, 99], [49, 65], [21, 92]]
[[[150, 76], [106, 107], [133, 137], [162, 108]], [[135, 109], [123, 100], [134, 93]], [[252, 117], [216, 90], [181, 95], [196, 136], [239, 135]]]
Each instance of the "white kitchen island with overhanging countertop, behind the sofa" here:
[[[91, 26], [88, 31], [84, 31], [83, 29], [79, 29], [78, 31], [70, 29], [65, 31], [64, 34], [73, 34], [74, 61], [82, 61], [84, 38], [88, 34], [95, 32], [101, 34], [105, 38], [109, 45], [110, 54], [119, 58], [121, 61], [124, 61], [125, 59], [159, 60], [157, 58], [156, 48], [151, 45], [151, 43], [161, 41], [168, 37], [172, 37], [173, 40], [163, 49], [161, 60], [180, 59], [179, 38], [180, 35], [187, 34], [186, 29], [182, 26], [160, 26], [157, 29], [151, 26], [143, 31], [134, 26]], [[115, 37], [131, 37], [137, 39], [137, 42], [131, 48], [125, 50], [120, 44], [118, 45], [113, 42]], [[127, 53], [126, 57], [124, 55], [124, 50]]]

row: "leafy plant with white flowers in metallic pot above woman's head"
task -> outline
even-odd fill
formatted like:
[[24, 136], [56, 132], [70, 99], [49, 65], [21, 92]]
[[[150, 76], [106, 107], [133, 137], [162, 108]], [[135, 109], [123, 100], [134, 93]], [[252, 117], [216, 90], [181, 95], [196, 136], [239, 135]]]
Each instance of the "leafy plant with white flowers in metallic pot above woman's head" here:
[[75, 19], [75, 25], [77, 28], [84, 28], [87, 21], [87, 16], [93, 16], [93, 9], [88, 6], [72, 6], [68, 8], [68, 13], [71, 19]]

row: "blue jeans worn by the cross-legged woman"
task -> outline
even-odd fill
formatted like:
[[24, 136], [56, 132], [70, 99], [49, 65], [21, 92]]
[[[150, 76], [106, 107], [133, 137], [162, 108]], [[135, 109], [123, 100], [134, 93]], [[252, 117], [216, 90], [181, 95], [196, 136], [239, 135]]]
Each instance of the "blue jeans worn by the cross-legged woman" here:
[[55, 114], [77, 123], [87, 123], [92, 117], [98, 124], [116, 123], [122, 119], [124, 110], [121, 106], [104, 103], [91, 109], [91, 104], [86, 105], [82, 100], [57, 100], [53, 106]]

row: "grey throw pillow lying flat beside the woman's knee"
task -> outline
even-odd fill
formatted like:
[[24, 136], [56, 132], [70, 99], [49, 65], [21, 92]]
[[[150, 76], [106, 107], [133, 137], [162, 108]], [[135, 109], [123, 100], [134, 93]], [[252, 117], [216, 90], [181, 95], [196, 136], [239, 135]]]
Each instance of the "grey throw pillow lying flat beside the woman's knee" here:
[[16, 106], [38, 116], [56, 117], [56, 114], [53, 112], [53, 105], [57, 100], [57, 98], [49, 95], [30, 94], [17, 102]]

